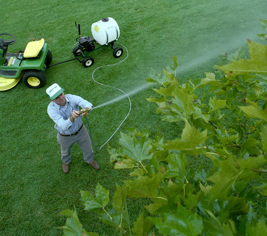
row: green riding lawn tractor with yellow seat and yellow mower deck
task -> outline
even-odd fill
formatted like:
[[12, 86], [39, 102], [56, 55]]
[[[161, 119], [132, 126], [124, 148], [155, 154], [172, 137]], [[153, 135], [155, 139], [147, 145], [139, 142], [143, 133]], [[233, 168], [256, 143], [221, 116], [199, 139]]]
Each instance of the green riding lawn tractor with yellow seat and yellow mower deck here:
[[[11, 40], [1, 38], [10, 36]], [[52, 61], [52, 53], [45, 40], [31, 41], [26, 48], [15, 53], [7, 52], [8, 46], [16, 42], [9, 33], [0, 34], [0, 91], [11, 89], [22, 78], [30, 88], [41, 88], [46, 83], [45, 69]]]

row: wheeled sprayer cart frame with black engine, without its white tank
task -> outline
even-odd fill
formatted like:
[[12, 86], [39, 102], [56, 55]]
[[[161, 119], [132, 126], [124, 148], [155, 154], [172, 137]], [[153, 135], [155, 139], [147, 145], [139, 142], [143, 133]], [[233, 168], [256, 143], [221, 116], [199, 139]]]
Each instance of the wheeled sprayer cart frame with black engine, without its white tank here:
[[[82, 38], [89, 37], [89, 36], [81, 37], [80, 24], [78, 24], [78, 26], [77, 26], [76, 21], [75, 21], [75, 25], [76, 25], [76, 27], [77, 27], [78, 30], [79, 30], [79, 38], [76, 38], [76, 41], [78, 41], [78, 40], [80, 40], [80, 39], [82, 39]], [[93, 37], [90, 37], [90, 38], [93, 38]], [[74, 54], [74, 56], [76, 57], [76, 59], [77, 59], [80, 63], [82, 63], [82, 65], [83, 65], [85, 68], [86, 68], [86, 67], [90, 67], [90, 66], [92, 66], [92, 65], [94, 64], [94, 59], [93, 59], [93, 57], [88, 57], [88, 54], [90, 54], [91, 52], [94, 52], [94, 51], [96, 51], [96, 50], [98, 50], [98, 49], [101, 49], [101, 48], [103, 48], [103, 47], [111, 47], [111, 48], [113, 49], [113, 57], [115, 57], [115, 58], [119, 58], [119, 57], [123, 54], [123, 49], [122, 49], [121, 47], [115, 47], [115, 46], [114, 46], [114, 43], [115, 43], [117, 40], [118, 40], [118, 39], [115, 39], [115, 40], [113, 40], [113, 41], [111, 41], [111, 42], [109, 42], [109, 43], [107, 43], [107, 44], [98, 46], [98, 47], [96, 47], [95, 49], [93, 49], [93, 50], [91, 50], [91, 51], [82, 50], [82, 49], [81, 49], [80, 47], [78, 47], [78, 46], [74, 47], [76, 44], [78, 44], [78, 43], [76, 43], [76, 44], [73, 46], [71, 52]], [[95, 43], [98, 44], [98, 42], [97, 42], [94, 38], [93, 38], [93, 41], [94, 41]], [[83, 60], [80, 60], [80, 59], [78, 58], [78, 56], [82, 56], [84, 59], [83, 59]]]

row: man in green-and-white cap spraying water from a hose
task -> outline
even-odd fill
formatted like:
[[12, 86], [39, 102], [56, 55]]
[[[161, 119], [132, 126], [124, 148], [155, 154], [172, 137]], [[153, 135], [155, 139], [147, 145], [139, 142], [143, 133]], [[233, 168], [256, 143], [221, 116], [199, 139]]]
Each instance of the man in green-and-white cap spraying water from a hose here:
[[[89, 109], [93, 108], [92, 103], [72, 94], [64, 94], [58, 84], [52, 84], [47, 88], [47, 96], [52, 100], [47, 107], [47, 113], [55, 122], [55, 129], [58, 131], [57, 139], [61, 146], [62, 170], [69, 173], [71, 162], [71, 147], [75, 142], [81, 147], [84, 161], [99, 170], [99, 164], [93, 160], [94, 152], [87, 129], [82, 123], [82, 118], [88, 115]], [[79, 107], [82, 109], [79, 111]], [[84, 112], [86, 111], [86, 112]], [[82, 113], [83, 112], [83, 113]]]

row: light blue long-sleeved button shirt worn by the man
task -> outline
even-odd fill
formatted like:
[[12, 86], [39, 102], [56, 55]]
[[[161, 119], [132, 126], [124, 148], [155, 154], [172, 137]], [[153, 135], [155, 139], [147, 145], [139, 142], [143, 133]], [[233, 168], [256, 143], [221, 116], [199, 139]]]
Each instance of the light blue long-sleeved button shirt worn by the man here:
[[82, 117], [79, 116], [74, 120], [70, 121], [70, 116], [73, 110], [79, 111], [79, 107], [92, 108], [92, 103], [85, 99], [72, 95], [66, 94], [66, 105], [60, 106], [55, 102], [50, 102], [47, 107], [47, 113], [50, 118], [55, 122], [55, 129], [61, 134], [74, 134], [82, 126]]

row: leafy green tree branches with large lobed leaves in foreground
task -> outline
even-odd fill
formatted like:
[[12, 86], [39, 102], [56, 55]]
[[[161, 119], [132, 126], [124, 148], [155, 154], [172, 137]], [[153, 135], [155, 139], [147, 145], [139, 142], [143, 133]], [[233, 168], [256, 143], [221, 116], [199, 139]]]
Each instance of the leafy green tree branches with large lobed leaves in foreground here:
[[[267, 47], [248, 44], [251, 59], [241, 59], [241, 50], [226, 56], [230, 63], [215, 66], [217, 76], [206, 73], [179, 84], [175, 56], [169, 71], [151, 71], [147, 82], [160, 84], [154, 89], [159, 96], [147, 100], [158, 104], [164, 121], [183, 121], [182, 135], [165, 140], [159, 132], [150, 137], [137, 128], [121, 133], [120, 148], [109, 148], [110, 160], [115, 169], [131, 169], [132, 178], [122, 187], [117, 184], [111, 204], [109, 191], [99, 184], [94, 195], [81, 191], [86, 210], [96, 211], [117, 235], [154, 235], [154, 224], [162, 235], [266, 234], [266, 200], [260, 212], [252, 206], [259, 194], [261, 199], [267, 195], [267, 83], [254, 74], [267, 74]], [[201, 94], [206, 86], [212, 97]], [[193, 155], [204, 155], [213, 167], [192, 171], [188, 160]], [[127, 198], [151, 201], [133, 225]], [[75, 212], [63, 213], [69, 216], [64, 230], [76, 222], [73, 229], [83, 232]]]

